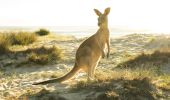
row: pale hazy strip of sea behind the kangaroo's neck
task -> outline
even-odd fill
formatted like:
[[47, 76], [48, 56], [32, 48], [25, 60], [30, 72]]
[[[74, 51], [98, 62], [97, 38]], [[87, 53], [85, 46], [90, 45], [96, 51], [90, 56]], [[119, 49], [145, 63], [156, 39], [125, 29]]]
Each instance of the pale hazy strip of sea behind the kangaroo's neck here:
[[[85, 37], [96, 33], [97, 26], [0, 26], [2, 31], [37, 31], [40, 28], [47, 29], [54, 34]], [[122, 36], [133, 33], [148, 33], [148, 30], [132, 30], [125, 27], [109, 27], [111, 36]]]

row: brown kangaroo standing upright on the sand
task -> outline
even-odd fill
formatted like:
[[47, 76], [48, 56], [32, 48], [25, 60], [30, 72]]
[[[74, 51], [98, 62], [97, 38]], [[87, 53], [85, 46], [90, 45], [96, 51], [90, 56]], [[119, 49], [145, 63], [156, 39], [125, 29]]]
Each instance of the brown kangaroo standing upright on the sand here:
[[80, 70], [87, 72], [88, 81], [94, 79], [95, 68], [98, 65], [101, 57], [105, 57], [106, 47], [108, 49], [107, 58], [110, 54], [110, 35], [107, 17], [110, 12], [110, 8], [106, 8], [103, 14], [97, 9], [94, 9], [94, 11], [98, 16], [99, 29], [94, 35], [86, 39], [77, 49], [73, 69], [63, 77], [34, 83], [33, 85], [48, 84], [54, 82], [61, 83], [71, 79]]

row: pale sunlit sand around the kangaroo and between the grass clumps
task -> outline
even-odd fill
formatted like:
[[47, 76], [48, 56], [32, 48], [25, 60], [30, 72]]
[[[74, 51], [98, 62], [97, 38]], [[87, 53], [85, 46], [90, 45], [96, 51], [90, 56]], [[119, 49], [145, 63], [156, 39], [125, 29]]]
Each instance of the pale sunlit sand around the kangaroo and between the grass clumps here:
[[[97, 93], [84, 93], [84, 92], [69, 92], [71, 85], [76, 84], [77, 81], [85, 79], [86, 75], [79, 74], [79, 77], [75, 80], [66, 82], [65, 84], [50, 84], [45, 86], [33, 86], [31, 83], [35, 81], [42, 81], [49, 79], [51, 75], [57, 73], [63, 75], [67, 73], [74, 64], [75, 52], [78, 46], [84, 41], [85, 38], [76, 39], [70, 37], [69, 39], [58, 39], [52, 37], [50, 39], [42, 38], [41, 41], [36, 42], [32, 46], [50, 46], [56, 45], [60, 47], [64, 52], [65, 58], [59, 64], [53, 65], [24, 65], [22, 67], [8, 67], [5, 68], [3, 73], [0, 75], [0, 98], [3, 100], [9, 99], [8, 97], [24, 99], [22, 96], [25, 93], [36, 93], [44, 92], [46, 90], [55, 91], [57, 93], [56, 99], [54, 100], [84, 100], [87, 96], [97, 95]], [[98, 65], [100, 69], [113, 69], [120, 62], [126, 61], [128, 57], [141, 54], [142, 52], [152, 52], [159, 48], [170, 47], [170, 38], [167, 35], [151, 35], [151, 34], [131, 34], [121, 37], [111, 38], [111, 54], [110, 58], [102, 59]], [[11, 57], [6, 58], [0, 57], [1, 67], [7, 61], [11, 61]], [[5, 59], [4, 59], [5, 58]], [[167, 68], [167, 67], [166, 67]], [[170, 69], [170, 68], [167, 68]], [[167, 69], [165, 69], [167, 71]], [[168, 71], [169, 72], [169, 71]], [[44, 91], [43, 91], [44, 90]], [[79, 99], [77, 99], [77, 97]], [[35, 100], [37, 98], [30, 98]], [[44, 99], [46, 100], [46, 99]], [[48, 99], [47, 99], [48, 100]]]

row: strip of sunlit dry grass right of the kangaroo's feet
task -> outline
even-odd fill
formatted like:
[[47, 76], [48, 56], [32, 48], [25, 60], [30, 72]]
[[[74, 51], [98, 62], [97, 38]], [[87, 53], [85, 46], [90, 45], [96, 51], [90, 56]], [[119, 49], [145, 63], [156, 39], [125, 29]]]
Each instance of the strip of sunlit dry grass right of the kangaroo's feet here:
[[[155, 77], [154, 73], [149, 70], [97, 70], [95, 74], [96, 80], [93, 82], [88, 83], [87, 81], [80, 81], [75, 87], [76, 89], [86, 88], [86, 86], [100, 84], [100, 83], [107, 83], [110, 80], [119, 80], [119, 79], [126, 79], [126, 80], [133, 80], [136, 78], [145, 78], [148, 77], [152, 79]], [[86, 88], [87, 89], [87, 88]]]

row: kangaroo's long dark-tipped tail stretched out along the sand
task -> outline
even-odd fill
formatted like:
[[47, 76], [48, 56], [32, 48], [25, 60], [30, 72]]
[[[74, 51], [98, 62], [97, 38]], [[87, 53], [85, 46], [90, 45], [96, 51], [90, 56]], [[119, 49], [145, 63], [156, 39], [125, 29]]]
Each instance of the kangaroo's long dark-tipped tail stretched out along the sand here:
[[33, 85], [39, 85], [39, 84], [45, 85], [48, 83], [55, 83], [55, 82], [60, 83], [60, 82], [63, 82], [63, 81], [66, 81], [66, 80], [72, 78], [78, 71], [79, 71], [79, 67], [77, 66], [77, 64], [75, 64], [73, 69], [69, 73], [64, 75], [63, 77], [51, 79], [51, 80], [47, 80], [47, 81], [43, 81], [43, 82], [39, 82], [39, 83], [33, 83]]

